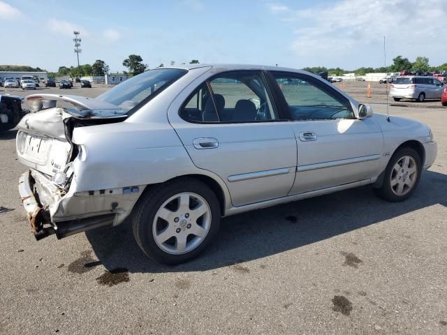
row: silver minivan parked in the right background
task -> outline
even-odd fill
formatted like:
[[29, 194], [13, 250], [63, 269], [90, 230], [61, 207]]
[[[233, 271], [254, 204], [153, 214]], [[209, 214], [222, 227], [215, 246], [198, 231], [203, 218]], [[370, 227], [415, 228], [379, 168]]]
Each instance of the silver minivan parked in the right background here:
[[390, 87], [390, 96], [394, 101], [406, 98], [423, 102], [425, 99], [440, 99], [443, 87], [444, 84], [435, 77], [397, 77]]

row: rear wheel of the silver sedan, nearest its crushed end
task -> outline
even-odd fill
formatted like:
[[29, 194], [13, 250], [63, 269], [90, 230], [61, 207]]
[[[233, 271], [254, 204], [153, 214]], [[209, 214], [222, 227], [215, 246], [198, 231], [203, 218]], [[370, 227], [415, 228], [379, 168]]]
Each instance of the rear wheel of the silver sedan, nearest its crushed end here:
[[177, 179], [138, 200], [133, 235], [149, 258], [176, 265], [202, 253], [216, 236], [220, 218], [219, 200], [206, 184]]

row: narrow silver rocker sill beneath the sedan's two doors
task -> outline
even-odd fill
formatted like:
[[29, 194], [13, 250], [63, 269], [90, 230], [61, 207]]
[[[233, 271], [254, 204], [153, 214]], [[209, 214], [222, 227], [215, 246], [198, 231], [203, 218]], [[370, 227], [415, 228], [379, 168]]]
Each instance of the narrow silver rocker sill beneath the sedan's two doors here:
[[252, 211], [254, 209], [261, 209], [261, 208], [276, 206], [277, 204], [284, 204], [286, 202], [292, 202], [292, 201], [296, 201], [296, 200], [313, 198], [313, 197], [317, 197], [318, 195], [334, 193], [337, 191], [346, 190], [348, 188], [365, 186], [365, 185], [371, 184], [371, 182], [372, 182], [372, 179], [362, 179], [359, 181], [354, 181], [353, 183], [349, 183], [349, 184], [343, 184], [343, 185], [339, 185], [339, 186], [322, 188], [321, 190], [297, 193], [297, 194], [293, 194], [293, 195], [287, 195], [286, 197], [282, 197], [282, 198], [276, 198], [276, 199], [272, 199], [272, 200], [255, 202], [254, 204], [244, 204], [243, 206], [239, 206], [239, 207], [231, 207], [230, 209], [227, 209], [225, 216], [240, 214], [240, 213], [243, 213], [244, 211]]

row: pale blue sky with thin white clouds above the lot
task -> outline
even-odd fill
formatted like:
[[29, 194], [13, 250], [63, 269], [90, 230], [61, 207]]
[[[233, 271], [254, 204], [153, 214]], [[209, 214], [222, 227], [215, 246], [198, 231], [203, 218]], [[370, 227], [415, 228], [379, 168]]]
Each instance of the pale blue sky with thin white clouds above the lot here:
[[[421, 7], [420, 4], [423, 3]], [[447, 0], [0, 0], [0, 64], [57, 70], [103, 59], [112, 72], [139, 54], [163, 63], [355, 69], [402, 55], [447, 62]]]

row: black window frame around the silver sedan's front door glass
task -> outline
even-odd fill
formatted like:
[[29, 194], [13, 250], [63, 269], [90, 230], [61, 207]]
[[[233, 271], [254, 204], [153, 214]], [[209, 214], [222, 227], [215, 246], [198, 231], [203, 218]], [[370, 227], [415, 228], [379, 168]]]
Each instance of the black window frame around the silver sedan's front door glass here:
[[[281, 71], [281, 70], [268, 70], [267, 72], [271, 77], [272, 85], [274, 85], [275, 91], [277, 91], [279, 94], [280, 105], [281, 105], [281, 108], [284, 109], [283, 112], [284, 112], [284, 115], [286, 115], [288, 117], [288, 121], [305, 122], [305, 121], [330, 121], [330, 120], [355, 120], [355, 119], [358, 119], [356, 117], [356, 113], [353, 110], [353, 107], [351, 105], [351, 101], [349, 100], [349, 98], [346, 98], [345, 96], [343, 96], [343, 94], [340, 94], [339, 91], [333, 89], [325, 82], [321, 82], [321, 80], [318, 80], [317, 78], [314, 78], [310, 75], [305, 75], [303, 73], [288, 72], [288, 71]], [[338, 100], [338, 98], [339, 98], [341, 100], [346, 101], [346, 105], [344, 105], [343, 103], [342, 103], [342, 105], [344, 105], [344, 107], [349, 107], [349, 112], [351, 112], [352, 117], [350, 117], [350, 118], [341, 117], [341, 118], [337, 118], [337, 119], [302, 119], [302, 120], [293, 119], [291, 117], [291, 112], [288, 109], [288, 103], [287, 103], [286, 97], [282, 93], [281, 88], [279, 87], [279, 84], [277, 83], [277, 80], [274, 77], [274, 73], [279, 73], [280, 75], [284, 75], [286, 77], [293, 77], [298, 80], [310, 82], [317, 89], [321, 89], [321, 87], [327, 88], [328, 91], [331, 92], [331, 94], [326, 92], [325, 89], [321, 89], [321, 91], [323, 91], [325, 94], [332, 96], [332, 98], [334, 98], [335, 100]]]

